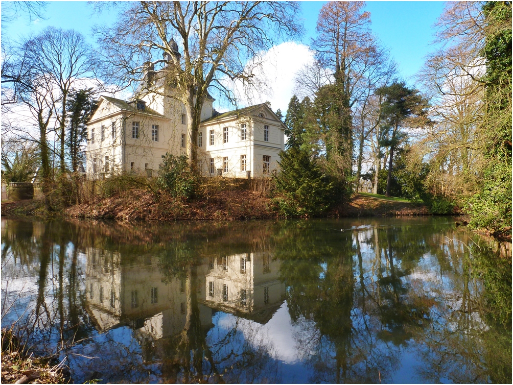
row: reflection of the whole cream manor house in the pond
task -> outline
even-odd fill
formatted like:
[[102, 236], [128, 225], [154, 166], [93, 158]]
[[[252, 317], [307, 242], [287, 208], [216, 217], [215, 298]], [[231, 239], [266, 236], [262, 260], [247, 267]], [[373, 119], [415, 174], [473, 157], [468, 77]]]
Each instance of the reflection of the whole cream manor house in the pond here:
[[[100, 331], [130, 325], [144, 338], [159, 339], [183, 330], [186, 277], [165, 278], [157, 258], [122, 263], [117, 252], [87, 250], [88, 312]], [[212, 309], [266, 323], [285, 293], [279, 261], [268, 253], [210, 257], [198, 267], [200, 319], [212, 326]]]

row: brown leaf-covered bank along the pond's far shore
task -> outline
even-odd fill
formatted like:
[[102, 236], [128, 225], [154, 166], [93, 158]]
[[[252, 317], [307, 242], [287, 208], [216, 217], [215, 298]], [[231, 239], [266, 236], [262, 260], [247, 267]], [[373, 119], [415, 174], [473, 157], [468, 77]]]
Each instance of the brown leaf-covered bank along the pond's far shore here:
[[[327, 212], [327, 217], [428, 215], [424, 205], [353, 196]], [[2, 202], [3, 216], [44, 216], [41, 200]], [[63, 217], [116, 221], [270, 219], [280, 215], [273, 200], [254, 191], [226, 190], [185, 201], [166, 194], [131, 189], [109, 198], [67, 208]]]

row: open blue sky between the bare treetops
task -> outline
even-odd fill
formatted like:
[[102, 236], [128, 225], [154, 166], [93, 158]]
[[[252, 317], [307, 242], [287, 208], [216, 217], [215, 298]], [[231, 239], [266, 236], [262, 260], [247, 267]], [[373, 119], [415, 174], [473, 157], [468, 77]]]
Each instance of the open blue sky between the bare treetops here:
[[[301, 2], [302, 15], [298, 16], [304, 23], [306, 33], [301, 42], [297, 43], [310, 44], [311, 38], [315, 36], [317, 16], [323, 4]], [[2, 8], [4, 6], [5, 2], [2, 2]], [[421, 69], [425, 55], [434, 49], [429, 45], [433, 39], [432, 26], [443, 8], [444, 2], [367, 2], [366, 10], [371, 13], [372, 31], [390, 49], [401, 76], [411, 86], [415, 86], [413, 75]], [[115, 13], [93, 14], [93, 6], [87, 2], [49, 2], [45, 15], [46, 19], [29, 22], [27, 18], [21, 17], [3, 25], [3, 38], [8, 35], [16, 39], [36, 34], [47, 26], [54, 26], [73, 28], [94, 44], [91, 27], [94, 24], [109, 24], [115, 18]], [[274, 108], [286, 109], [284, 100], [272, 103], [276, 105]]]

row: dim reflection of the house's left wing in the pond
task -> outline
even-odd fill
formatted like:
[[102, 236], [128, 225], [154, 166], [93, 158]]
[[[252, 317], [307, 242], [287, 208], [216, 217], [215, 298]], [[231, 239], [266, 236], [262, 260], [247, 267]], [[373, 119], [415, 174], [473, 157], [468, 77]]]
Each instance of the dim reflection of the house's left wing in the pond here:
[[[89, 249], [86, 285], [89, 314], [100, 331], [131, 325], [162, 338], [185, 325], [185, 279], [165, 280], [156, 258], [122, 264], [118, 253]], [[204, 325], [210, 325], [210, 309], [201, 307], [200, 316]]]

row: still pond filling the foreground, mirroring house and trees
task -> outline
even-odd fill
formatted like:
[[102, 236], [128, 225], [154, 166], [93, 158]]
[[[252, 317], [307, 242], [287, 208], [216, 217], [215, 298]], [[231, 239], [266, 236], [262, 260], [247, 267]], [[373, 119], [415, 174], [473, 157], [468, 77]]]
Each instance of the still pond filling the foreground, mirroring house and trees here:
[[2, 303], [74, 382], [511, 383], [511, 257], [451, 217], [2, 219]]

